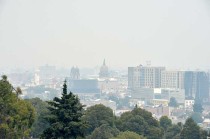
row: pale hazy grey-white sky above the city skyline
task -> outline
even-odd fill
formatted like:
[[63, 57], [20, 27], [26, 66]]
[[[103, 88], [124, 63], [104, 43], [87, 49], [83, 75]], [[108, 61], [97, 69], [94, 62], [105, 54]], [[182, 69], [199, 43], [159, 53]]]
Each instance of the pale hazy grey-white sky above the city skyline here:
[[0, 68], [210, 68], [209, 0], [0, 0]]

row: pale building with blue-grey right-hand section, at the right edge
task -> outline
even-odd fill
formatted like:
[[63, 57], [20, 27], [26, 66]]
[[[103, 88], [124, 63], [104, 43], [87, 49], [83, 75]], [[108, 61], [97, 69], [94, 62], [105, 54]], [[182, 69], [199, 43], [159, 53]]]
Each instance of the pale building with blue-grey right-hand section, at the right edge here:
[[185, 91], [187, 99], [209, 99], [209, 74], [204, 71], [163, 71], [161, 88]]

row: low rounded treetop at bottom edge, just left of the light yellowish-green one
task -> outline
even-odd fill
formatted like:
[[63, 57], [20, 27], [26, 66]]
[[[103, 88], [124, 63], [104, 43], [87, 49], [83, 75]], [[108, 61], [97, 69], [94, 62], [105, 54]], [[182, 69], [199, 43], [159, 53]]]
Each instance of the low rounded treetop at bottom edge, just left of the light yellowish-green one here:
[[87, 139], [110, 139], [117, 136], [119, 132], [120, 131], [117, 128], [103, 124], [100, 127], [95, 128]]

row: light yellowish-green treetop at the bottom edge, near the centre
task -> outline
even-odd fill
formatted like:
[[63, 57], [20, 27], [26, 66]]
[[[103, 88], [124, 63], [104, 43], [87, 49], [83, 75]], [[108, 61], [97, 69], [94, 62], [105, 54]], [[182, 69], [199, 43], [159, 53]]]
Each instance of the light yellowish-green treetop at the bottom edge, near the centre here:
[[120, 132], [120, 134], [117, 137], [111, 139], [146, 139], [146, 138], [135, 132], [125, 131], [125, 132]]

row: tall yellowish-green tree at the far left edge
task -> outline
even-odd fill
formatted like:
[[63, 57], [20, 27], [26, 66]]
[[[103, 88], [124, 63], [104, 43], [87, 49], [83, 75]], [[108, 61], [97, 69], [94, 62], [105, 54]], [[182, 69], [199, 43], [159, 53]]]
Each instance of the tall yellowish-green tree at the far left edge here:
[[20, 98], [16, 90], [2, 76], [0, 80], [0, 138], [26, 138], [34, 122], [32, 105]]

